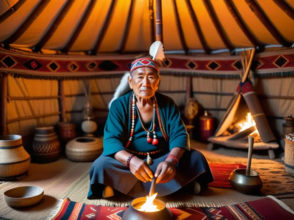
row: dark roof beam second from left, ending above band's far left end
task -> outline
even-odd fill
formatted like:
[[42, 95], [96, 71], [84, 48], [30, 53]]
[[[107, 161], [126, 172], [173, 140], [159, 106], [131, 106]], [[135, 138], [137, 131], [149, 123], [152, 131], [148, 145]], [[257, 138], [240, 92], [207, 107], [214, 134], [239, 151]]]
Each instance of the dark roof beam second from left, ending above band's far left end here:
[[38, 6], [34, 9], [34, 11], [29, 15], [28, 18], [24, 21], [24, 23], [6, 40], [2, 43], [5, 48], [9, 48], [9, 44], [14, 43], [18, 38], [23, 35], [23, 33], [31, 26], [31, 24], [38, 18], [38, 16], [42, 13], [42, 11], [46, 8], [50, 0], [42, 0]]

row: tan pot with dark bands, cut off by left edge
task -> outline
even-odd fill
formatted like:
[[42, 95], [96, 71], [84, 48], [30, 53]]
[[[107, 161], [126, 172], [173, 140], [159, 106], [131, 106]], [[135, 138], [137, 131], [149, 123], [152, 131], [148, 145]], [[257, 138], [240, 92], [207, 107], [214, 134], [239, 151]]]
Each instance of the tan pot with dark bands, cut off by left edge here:
[[0, 136], [0, 180], [20, 180], [27, 176], [31, 156], [20, 135]]

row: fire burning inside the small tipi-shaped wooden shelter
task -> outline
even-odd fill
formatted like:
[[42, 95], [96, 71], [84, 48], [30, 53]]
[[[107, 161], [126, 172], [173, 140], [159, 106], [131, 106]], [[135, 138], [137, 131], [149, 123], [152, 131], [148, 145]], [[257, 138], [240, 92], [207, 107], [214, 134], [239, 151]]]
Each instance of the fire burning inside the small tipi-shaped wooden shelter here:
[[234, 123], [231, 126], [229, 126], [227, 131], [225, 131], [223, 133], [223, 136], [230, 136], [232, 134], [235, 134], [235, 133], [238, 133], [241, 131], [245, 131], [246, 129], [251, 128], [251, 127], [255, 127], [255, 130], [252, 133], [250, 133], [249, 135], [254, 137], [255, 143], [261, 142], [259, 132], [256, 128], [256, 123], [255, 123], [250, 112], [247, 113], [246, 119], [238, 121], [237, 123]]

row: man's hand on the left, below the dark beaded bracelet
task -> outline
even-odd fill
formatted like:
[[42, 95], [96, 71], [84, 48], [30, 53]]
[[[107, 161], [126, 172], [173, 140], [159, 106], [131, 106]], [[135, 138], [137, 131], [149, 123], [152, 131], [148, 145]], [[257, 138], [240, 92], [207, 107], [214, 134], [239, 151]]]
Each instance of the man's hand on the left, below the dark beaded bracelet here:
[[130, 171], [142, 182], [152, 181], [153, 173], [144, 160], [133, 157], [130, 160]]

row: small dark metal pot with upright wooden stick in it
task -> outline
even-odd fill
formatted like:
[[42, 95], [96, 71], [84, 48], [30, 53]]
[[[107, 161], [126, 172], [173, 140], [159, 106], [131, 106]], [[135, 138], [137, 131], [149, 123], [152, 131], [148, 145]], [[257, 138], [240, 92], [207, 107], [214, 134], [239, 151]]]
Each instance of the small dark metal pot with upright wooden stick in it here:
[[255, 170], [250, 170], [248, 176], [246, 169], [235, 169], [230, 174], [229, 181], [233, 189], [244, 194], [256, 194], [263, 186], [259, 173]]

